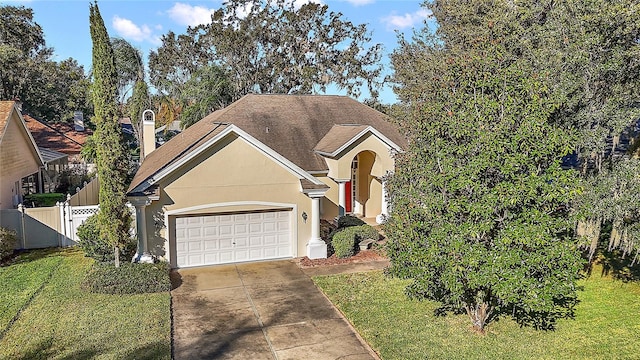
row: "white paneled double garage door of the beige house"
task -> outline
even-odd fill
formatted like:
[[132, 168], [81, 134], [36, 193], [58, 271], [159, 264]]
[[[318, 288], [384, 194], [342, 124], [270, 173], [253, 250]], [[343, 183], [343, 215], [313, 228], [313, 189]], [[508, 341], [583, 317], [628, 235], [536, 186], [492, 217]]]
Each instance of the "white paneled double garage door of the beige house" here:
[[291, 211], [176, 218], [178, 267], [292, 257]]

